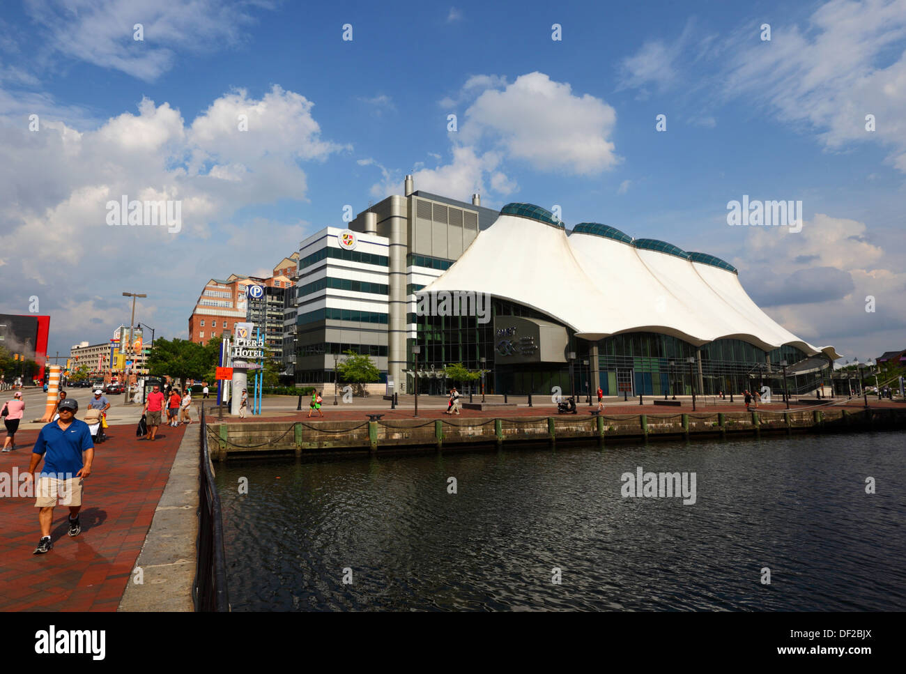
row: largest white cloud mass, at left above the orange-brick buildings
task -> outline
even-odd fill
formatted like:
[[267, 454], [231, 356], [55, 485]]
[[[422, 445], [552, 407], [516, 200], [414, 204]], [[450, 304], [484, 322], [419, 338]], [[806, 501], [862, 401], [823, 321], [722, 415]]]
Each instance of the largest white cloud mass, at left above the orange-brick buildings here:
[[[92, 317], [111, 325], [128, 319], [119, 305], [70, 297], [101, 274], [105, 284], [138, 283], [137, 292], [149, 293], [140, 320], [159, 335], [182, 331], [185, 294], [197, 292], [187, 277], [197, 269], [223, 269], [232, 259], [268, 264], [297, 246], [298, 223], [231, 218], [257, 204], [304, 199], [300, 163], [346, 148], [322, 139], [312, 109], [274, 87], [260, 99], [228, 93], [191, 123], [149, 99], [92, 130], [72, 129], [50, 112], [38, 132], [18, 115], [0, 118], [0, 284], [17, 289], [0, 301], [3, 311], [24, 313], [19, 295], [36, 294], [58, 326], [54, 340], [96, 336]], [[237, 129], [238, 111], [248, 114], [248, 131]], [[108, 226], [107, 202], [123, 195], [180, 200], [181, 230]]]

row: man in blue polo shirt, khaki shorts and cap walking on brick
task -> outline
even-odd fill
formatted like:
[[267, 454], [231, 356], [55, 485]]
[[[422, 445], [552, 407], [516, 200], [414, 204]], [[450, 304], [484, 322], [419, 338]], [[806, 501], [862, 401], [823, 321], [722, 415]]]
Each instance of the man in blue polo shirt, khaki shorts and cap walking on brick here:
[[53, 547], [51, 524], [58, 493], [63, 498], [62, 505], [69, 506], [69, 535], [77, 536], [82, 532], [82, 525], [79, 523], [82, 480], [92, 474], [94, 443], [88, 424], [75, 418], [77, 411], [79, 403], [76, 400], [60, 400], [57, 406], [60, 419], [41, 429], [32, 449], [32, 462], [26, 479], [34, 480], [34, 471], [42, 457], [44, 459], [44, 467], [35, 488], [37, 499], [34, 506], [41, 508], [38, 511], [41, 540], [38, 541], [34, 554], [44, 554]]

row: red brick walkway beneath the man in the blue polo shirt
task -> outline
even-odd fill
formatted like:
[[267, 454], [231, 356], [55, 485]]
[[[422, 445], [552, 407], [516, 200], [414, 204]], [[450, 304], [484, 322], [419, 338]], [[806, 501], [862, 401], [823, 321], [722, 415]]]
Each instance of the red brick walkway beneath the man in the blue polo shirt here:
[[[40, 538], [34, 497], [0, 498], [0, 611], [116, 611], [184, 432], [161, 427], [148, 442], [134, 425], [108, 428], [85, 480], [82, 534], [67, 535], [69, 508], [57, 506], [47, 554], [32, 554]], [[0, 472], [24, 472], [37, 437], [37, 430], [16, 433], [17, 449], [0, 454]]]

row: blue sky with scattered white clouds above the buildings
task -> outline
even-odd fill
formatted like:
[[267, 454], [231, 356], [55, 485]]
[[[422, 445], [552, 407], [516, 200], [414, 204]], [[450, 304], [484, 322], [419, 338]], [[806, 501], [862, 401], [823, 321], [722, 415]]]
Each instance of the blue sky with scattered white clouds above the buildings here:
[[[844, 361], [906, 348], [906, 0], [363, 5], [5, 0], [0, 313], [37, 298], [68, 353], [143, 293], [186, 338], [209, 278], [411, 173], [718, 255]], [[801, 226], [730, 226], [744, 195]], [[178, 226], [117, 226], [124, 196]]]

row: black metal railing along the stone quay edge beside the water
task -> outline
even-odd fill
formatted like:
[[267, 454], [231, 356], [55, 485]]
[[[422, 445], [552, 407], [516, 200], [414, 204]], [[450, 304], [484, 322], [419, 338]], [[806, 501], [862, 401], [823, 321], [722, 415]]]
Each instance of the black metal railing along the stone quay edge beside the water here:
[[207, 450], [205, 408], [201, 406], [201, 436], [199, 456], [201, 470], [198, 479], [198, 561], [192, 600], [196, 611], [229, 611], [226, 592], [226, 554], [220, 495], [214, 483], [210, 453]]

